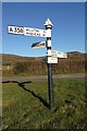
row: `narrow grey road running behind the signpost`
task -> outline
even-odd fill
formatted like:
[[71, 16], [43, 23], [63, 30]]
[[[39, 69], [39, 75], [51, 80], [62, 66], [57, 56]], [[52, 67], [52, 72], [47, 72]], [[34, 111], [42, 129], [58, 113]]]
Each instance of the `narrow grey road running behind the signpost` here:
[[[53, 80], [63, 80], [63, 79], [85, 79], [87, 75], [85, 73], [76, 73], [76, 74], [58, 74], [52, 75]], [[17, 82], [26, 82], [26, 81], [47, 81], [47, 75], [36, 75], [36, 76], [14, 76], [14, 78], [3, 78], [0, 79], [0, 82], [7, 81], [17, 81]]]

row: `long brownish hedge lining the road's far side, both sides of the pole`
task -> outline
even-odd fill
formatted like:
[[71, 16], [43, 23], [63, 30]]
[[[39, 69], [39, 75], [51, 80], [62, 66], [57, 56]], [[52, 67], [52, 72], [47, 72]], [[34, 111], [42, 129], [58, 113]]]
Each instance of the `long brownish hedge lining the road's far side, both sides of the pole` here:
[[[58, 64], [52, 64], [53, 74], [84, 73], [85, 61], [60, 60]], [[47, 75], [47, 63], [41, 61], [18, 61], [13, 66], [13, 70], [3, 70], [3, 76], [9, 75]]]

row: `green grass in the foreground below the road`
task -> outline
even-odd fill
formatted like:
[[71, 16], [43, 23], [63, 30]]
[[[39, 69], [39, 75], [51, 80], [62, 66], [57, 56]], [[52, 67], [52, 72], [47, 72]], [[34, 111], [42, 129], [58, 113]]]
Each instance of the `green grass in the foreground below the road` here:
[[3, 129], [87, 129], [85, 80], [53, 81], [54, 108], [49, 109], [47, 82], [2, 84]]

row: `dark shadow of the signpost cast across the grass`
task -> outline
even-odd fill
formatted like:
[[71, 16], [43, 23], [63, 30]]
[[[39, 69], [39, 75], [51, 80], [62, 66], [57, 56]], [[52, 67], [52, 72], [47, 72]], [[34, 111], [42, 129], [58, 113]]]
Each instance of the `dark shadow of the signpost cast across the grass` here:
[[17, 81], [5, 81], [5, 82], [2, 82], [2, 83], [17, 83], [20, 87], [22, 87], [24, 91], [30, 93], [35, 98], [38, 98], [38, 100], [39, 100], [40, 103], [42, 103], [47, 108], [50, 109], [49, 104], [48, 104], [42, 97], [38, 96], [38, 95], [35, 94], [33, 91], [27, 90], [27, 88], [25, 87], [25, 84], [32, 83], [32, 81], [22, 82], [22, 83], [20, 83], [20, 82], [17, 82]]

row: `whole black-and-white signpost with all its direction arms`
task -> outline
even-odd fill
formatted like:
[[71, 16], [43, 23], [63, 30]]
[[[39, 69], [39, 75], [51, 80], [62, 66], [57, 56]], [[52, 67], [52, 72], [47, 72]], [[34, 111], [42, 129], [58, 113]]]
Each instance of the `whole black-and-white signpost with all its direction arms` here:
[[58, 63], [58, 58], [67, 58], [67, 53], [60, 52], [57, 50], [51, 50], [52, 23], [49, 19], [47, 19], [45, 26], [46, 26], [46, 29], [10, 25], [8, 26], [8, 33], [15, 34], [15, 35], [35, 36], [35, 37], [47, 37], [46, 41], [35, 43], [32, 45], [32, 48], [47, 47], [49, 106], [52, 109], [54, 106], [54, 100], [53, 100], [51, 64]]

